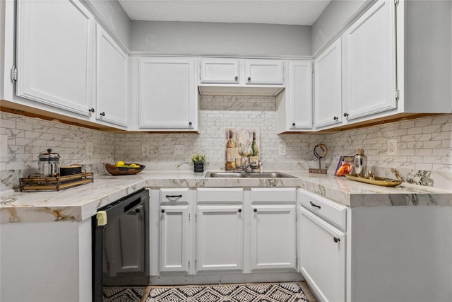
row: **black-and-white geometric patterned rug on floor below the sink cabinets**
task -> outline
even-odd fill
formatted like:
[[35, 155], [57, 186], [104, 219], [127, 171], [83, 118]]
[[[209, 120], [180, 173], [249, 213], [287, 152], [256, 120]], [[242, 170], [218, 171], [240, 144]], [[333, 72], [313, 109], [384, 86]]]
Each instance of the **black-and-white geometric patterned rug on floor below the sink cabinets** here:
[[168, 286], [150, 290], [145, 302], [307, 302], [297, 283]]

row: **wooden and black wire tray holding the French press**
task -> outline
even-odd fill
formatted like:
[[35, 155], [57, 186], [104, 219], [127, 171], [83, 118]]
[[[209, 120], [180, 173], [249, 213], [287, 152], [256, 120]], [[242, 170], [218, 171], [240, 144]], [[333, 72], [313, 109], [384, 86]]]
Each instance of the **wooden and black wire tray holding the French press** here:
[[93, 172], [78, 173], [67, 176], [46, 177], [39, 174], [20, 178], [20, 192], [23, 190], [63, 190], [76, 185], [94, 182]]

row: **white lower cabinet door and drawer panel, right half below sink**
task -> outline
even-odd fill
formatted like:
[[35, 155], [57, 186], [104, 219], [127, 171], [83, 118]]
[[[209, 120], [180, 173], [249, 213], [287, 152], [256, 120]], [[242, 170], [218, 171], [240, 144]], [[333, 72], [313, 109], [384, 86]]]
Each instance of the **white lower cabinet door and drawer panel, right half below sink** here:
[[251, 270], [296, 269], [295, 188], [251, 189]]

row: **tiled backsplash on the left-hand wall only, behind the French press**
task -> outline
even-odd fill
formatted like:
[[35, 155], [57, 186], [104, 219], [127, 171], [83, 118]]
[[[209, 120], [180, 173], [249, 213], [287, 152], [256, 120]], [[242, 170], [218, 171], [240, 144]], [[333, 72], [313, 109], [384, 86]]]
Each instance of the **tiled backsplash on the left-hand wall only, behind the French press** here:
[[[2, 186], [18, 187], [18, 178], [37, 172], [38, 155], [48, 148], [59, 153], [60, 165], [83, 163], [86, 170], [104, 173], [102, 163], [113, 162], [113, 133], [6, 112], [0, 112], [0, 117]], [[87, 141], [93, 143], [92, 156], [86, 155]]]

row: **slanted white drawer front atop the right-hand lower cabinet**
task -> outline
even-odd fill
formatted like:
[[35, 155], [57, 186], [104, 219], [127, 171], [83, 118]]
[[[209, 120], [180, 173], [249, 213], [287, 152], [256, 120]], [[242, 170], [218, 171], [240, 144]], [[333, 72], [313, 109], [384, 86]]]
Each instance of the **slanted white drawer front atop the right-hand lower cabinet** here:
[[299, 202], [304, 208], [345, 231], [347, 207], [304, 190], [299, 190]]

